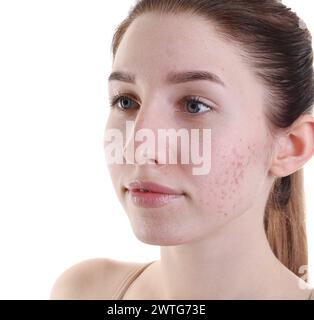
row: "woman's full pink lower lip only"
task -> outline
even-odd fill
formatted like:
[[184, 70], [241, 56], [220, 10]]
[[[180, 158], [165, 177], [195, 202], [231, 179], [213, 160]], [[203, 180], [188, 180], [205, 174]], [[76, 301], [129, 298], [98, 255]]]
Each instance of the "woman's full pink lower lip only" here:
[[183, 194], [141, 192], [137, 190], [126, 191], [133, 203], [141, 208], [160, 208], [183, 196]]

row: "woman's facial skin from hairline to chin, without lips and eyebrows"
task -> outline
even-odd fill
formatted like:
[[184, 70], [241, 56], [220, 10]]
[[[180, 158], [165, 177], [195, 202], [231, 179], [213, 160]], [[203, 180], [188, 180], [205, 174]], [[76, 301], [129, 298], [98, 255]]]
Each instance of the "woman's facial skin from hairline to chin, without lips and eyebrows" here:
[[[123, 133], [125, 151], [140, 129], [150, 129], [156, 137], [157, 129], [200, 129], [201, 149], [202, 130], [211, 130], [207, 174], [193, 174], [196, 166], [191, 162], [161, 163], [162, 151], [180, 155], [180, 143], [169, 143], [167, 150], [156, 146], [156, 163], [109, 165], [116, 193], [139, 240], [158, 245], [186, 243], [210, 236], [244, 213], [263, 214], [271, 150], [264, 117], [265, 88], [237, 50], [217, 35], [213, 25], [187, 15], [144, 14], [124, 35], [112, 71], [131, 73], [136, 80], [109, 81], [110, 98], [118, 93], [127, 98], [111, 109], [106, 129]], [[192, 70], [214, 73], [225, 85], [209, 80], [167, 82], [169, 73]], [[191, 96], [200, 102], [184, 102]], [[132, 136], [125, 136], [126, 121], [134, 122]], [[135, 148], [138, 145], [135, 142]], [[140, 207], [125, 189], [136, 179], [184, 194], [161, 207]]]

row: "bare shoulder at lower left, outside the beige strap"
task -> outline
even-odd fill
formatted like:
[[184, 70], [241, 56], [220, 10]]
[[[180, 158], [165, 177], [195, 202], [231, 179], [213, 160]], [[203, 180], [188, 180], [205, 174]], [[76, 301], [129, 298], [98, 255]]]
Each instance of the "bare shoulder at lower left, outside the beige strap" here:
[[50, 299], [112, 299], [121, 282], [141, 265], [109, 258], [84, 260], [66, 269], [56, 279]]

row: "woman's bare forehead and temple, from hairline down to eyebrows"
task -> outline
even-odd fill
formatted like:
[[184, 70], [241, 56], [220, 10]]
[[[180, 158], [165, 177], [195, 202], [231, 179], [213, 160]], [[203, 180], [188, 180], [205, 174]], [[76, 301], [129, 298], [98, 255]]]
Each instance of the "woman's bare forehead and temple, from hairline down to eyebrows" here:
[[229, 97], [256, 101], [265, 88], [242, 55], [202, 17], [145, 13], [124, 34], [112, 69], [135, 74], [139, 84], [152, 89], [166, 85], [169, 71], [207, 70], [222, 79]]

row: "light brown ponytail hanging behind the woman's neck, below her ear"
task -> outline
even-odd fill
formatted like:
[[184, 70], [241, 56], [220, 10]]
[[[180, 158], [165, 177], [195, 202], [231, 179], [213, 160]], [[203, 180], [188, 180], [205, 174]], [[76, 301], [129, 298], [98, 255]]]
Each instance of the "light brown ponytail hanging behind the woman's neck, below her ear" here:
[[308, 264], [303, 168], [275, 180], [264, 226], [275, 256], [300, 277], [300, 268]]

